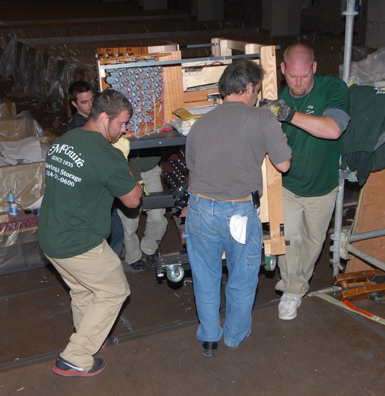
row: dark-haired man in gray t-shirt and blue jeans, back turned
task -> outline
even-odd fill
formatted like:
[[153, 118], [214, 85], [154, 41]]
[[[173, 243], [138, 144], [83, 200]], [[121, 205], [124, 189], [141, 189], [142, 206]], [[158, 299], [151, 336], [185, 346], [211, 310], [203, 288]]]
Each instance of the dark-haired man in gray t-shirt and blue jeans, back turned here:
[[[274, 115], [255, 107], [263, 72], [247, 59], [226, 67], [223, 103], [199, 118], [186, 142], [190, 170], [185, 237], [191, 265], [203, 354], [214, 356], [224, 336], [235, 349], [250, 335], [257, 290], [262, 229], [252, 192], [262, 193], [265, 154], [281, 172], [291, 149]], [[226, 252], [226, 319], [219, 322], [222, 253]]]

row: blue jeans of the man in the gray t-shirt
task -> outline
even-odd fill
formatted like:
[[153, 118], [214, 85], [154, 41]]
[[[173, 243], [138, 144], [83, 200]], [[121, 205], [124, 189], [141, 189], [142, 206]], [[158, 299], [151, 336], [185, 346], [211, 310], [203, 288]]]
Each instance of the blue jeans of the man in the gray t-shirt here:
[[[230, 234], [230, 218], [247, 216], [245, 245]], [[198, 341], [229, 347], [240, 344], [251, 328], [251, 313], [261, 260], [262, 225], [252, 201], [223, 202], [190, 195], [185, 234], [199, 317]], [[226, 318], [220, 327], [222, 253], [226, 252], [228, 282]]]

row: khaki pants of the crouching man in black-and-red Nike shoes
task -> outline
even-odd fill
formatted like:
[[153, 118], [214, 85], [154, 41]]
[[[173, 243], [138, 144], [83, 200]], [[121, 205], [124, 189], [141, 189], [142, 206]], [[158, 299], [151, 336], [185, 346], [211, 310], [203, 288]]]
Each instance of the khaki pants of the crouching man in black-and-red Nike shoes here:
[[70, 288], [75, 333], [60, 355], [89, 370], [129, 295], [121, 261], [105, 240], [75, 257], [47, 258]]

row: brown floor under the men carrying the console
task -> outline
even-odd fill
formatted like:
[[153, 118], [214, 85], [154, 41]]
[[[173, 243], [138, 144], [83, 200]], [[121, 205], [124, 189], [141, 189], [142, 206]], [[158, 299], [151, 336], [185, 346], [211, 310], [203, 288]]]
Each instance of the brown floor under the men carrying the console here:
[[[346, 214], [349, 221], [351, 211]], [[164, 254], [178, 249], [168, 217]], [[329, 245], [330, 239], [311, 291], [331, 286]], [[70, 297], [60, 277], [50, 265], [0, 276], [0, 395], [384, 394], [384, 326], [318, 297], [305, 297], [296, 319], [278, 319], [277, 269], [260, 271], [251, 338], [234, 351], [220, 344], [214, 358], [204, 357], [196, 341], [189, 272], [178, 284], [158, 281], [150, 268], [127, 277], [131, 295], [112, 332], [120, 343], [97, 353], [106, 369], [92, 379], [68, 379], [51, 372], [73, 331]], [[226, 279], [224, 271], [222, 286]], [[384, 304], [355, 305], [385, 317]]]

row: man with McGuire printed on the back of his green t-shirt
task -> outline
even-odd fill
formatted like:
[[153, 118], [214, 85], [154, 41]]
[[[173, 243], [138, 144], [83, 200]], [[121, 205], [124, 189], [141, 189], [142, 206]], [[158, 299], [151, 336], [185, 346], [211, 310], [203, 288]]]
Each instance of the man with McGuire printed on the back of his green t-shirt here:
[[93, 355], [117, 343], [107, 336], [129, 287], [121, 260], [106, 242], [111, 206], [118, 197], [137, 207], [142, 190], [111, 143], [126, 131], [131, 114], [128, 100], [108, 89], [94, 98], [86, 124], [47, 152], [39, 244], [70, 288], [75, 333], [52, 369], [64, 377], [100, 373], [105, 362]]

